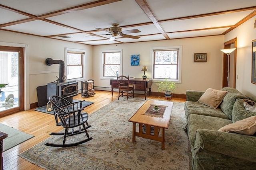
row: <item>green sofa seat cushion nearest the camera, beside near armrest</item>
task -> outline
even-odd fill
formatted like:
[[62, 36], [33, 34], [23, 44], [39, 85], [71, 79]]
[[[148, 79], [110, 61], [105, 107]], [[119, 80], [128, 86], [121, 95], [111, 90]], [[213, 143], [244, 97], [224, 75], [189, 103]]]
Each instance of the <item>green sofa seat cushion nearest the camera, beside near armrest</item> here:
[[233, 123], [228, 119], [205, 115], [189, 115], [188, 117], [188, 139], [190, 145], [194, 146], [197, 129], [208, 129], [218, 131], [221, 127]]

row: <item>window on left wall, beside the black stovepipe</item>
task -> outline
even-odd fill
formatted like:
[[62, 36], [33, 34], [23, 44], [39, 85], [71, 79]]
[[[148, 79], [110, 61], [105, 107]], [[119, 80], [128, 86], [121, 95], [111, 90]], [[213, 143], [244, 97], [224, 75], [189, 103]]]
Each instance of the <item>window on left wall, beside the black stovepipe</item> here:
[[67, 80], [84, 79], [85, 50], [65, 48]]

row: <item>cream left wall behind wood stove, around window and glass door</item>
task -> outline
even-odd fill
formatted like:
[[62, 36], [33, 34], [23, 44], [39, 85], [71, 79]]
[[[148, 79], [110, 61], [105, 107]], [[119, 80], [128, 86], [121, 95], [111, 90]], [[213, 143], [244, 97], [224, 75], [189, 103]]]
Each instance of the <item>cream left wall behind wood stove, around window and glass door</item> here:
[[67, 41], [48, 39], [44, 37], [36, 37], [9, 31], [0, 31], [0, 42], [3, 45], [8, 43], [26, 44], [26, 96], [27, 103], [37, 102], [36, 87], [47, 85], [53, 82], [59, 76], [59, 64], [48, 66], [45, 59], [52, 58], [54, 60], [65, 61], [65, 47], [74, 49], [84, 49], [87, 54], [86, 61], [86, 79], [92, 78], [92, 46]]

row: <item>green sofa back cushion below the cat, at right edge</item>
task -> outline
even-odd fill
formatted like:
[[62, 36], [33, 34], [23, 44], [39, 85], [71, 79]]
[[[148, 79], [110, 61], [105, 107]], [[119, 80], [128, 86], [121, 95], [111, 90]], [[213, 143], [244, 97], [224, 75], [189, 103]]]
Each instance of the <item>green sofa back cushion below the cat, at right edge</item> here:
[[232, 121], [235, 123], [236, 121], [246, 119], [247, 117], [251, 117], [256, 115], [256, 112], [248, 111], [244, 107], [244, 100], [237, 99], [233, 106], [232, 111]]

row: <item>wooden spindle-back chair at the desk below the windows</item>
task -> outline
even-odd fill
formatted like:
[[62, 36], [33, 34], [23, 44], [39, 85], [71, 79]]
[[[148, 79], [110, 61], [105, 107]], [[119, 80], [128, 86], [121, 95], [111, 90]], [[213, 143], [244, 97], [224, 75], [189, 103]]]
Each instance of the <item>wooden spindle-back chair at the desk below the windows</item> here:
[[117, 76], [117, 85], [118, 100], [120, 96], [126, 96], [126, 101], [128, 101], [128, 98], [131, 96], [134, 98], [134, 83], [129, 82], [129, 76]]

